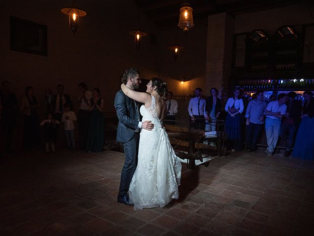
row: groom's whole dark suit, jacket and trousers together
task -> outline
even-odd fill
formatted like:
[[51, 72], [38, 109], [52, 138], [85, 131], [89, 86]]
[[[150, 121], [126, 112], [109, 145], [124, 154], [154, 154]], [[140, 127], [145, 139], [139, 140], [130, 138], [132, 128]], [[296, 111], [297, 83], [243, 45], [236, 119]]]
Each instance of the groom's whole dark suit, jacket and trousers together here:
[[135, 130], [139, 124], [139, 111], [137, 102], [126, 96], [122, 90], [116, 93], [114, 107], [119, 119], [117, 141], [123, 143], [126, 155], [118, 195], [118, 198], [121, 198], [128, 194], [137, 165], [139, 132], [135, 132]]

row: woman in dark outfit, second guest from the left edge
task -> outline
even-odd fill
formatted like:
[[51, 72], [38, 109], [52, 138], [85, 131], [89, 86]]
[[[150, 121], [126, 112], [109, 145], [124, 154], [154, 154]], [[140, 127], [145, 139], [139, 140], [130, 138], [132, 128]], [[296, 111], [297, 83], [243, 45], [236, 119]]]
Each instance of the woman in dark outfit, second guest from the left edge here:
[[34, 96], [33, 87], [26, 87], [25, 96], [21, 100], [21, 111], [24, 114], [24, 147], [36, 149], [40, 146], [38, 98]]

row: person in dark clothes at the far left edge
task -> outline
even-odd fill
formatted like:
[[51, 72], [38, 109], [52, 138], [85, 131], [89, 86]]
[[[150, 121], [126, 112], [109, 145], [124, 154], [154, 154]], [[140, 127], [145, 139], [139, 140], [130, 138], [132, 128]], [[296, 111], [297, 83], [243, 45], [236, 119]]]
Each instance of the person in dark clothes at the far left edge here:
[[2, 82], [1, 106], [0, 135], [4, 141], [3, 148], [6, 152], [12, 152], [11, 144], [17, 118], [18, 100], [15, 93], [11, 92], [9, 81]]

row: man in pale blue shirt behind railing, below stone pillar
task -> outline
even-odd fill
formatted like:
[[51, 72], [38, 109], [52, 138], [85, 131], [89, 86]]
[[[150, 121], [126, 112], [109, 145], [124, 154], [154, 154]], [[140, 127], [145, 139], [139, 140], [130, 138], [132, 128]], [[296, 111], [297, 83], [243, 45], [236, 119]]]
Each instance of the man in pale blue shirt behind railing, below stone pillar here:
[[190, 125], [195, 129], [205, 129], [205, 106], [206, 100], [201, 97], [202, 89], [196, 88], [194, 90], [195, 97], [191, 98], [188, 104], [188, 114], [190, 115]]

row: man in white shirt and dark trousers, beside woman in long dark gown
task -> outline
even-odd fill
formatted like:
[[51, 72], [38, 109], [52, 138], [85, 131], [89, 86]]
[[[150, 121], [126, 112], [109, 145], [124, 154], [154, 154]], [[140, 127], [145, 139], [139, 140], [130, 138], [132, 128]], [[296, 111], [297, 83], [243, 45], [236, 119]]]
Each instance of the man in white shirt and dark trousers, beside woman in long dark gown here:
[[87, 89], [85, 83], [80, 83], [78, 89], [80, 90], [78, 97], [79, 148], [85, 150], [89, 124], [89, 105], [92, 98], [92, 92]]

